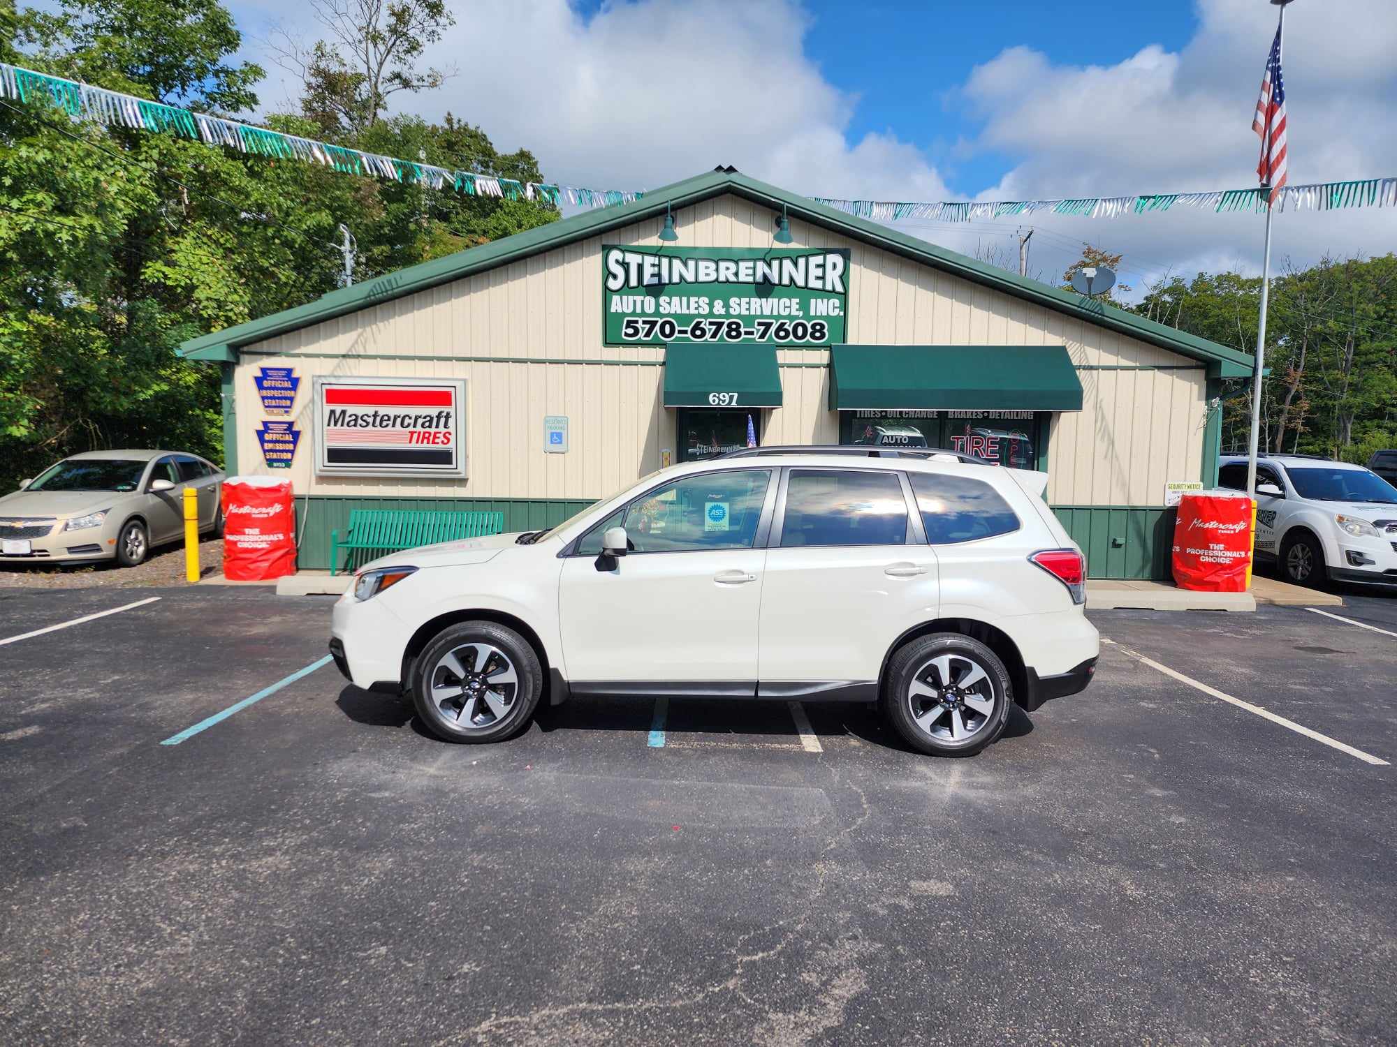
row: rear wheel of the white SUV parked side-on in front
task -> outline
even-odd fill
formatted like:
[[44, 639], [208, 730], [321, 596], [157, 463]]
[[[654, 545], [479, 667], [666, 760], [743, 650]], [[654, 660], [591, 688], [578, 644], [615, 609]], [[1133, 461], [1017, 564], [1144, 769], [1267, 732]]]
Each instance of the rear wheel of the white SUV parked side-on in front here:
[[[940, 684], [935, 677], [939, 671], [932, 670], [932, 660], [949, 656], [946, 663], [951, 667], [953, 678], [949, 681], [954, 690], [957, 684], [974, 676], [967, 666], [977, 664], [983, 671], [982, 678], [967, 688], [971, 695], [949, 695], [946, 705], [943, 701], [926, 699], [922, 705], [925, 715], [935, 713], [929, 727], [918, 726], [914, 718], [912, 705], [915, 699], [909, 692], [914, 681], [922, 688], [930, 687], [937, 691]], [[929, 676], [930, 674], [930, 676]], [[929, 683], [930, 681], [930, 683]], [[993, 694], [986, 698], [985, 690], [992, 688]], [[997, 738], [1004, 725], [1009, 722], [1009, 706], [1014, 702], [1013, 683], [1009, 670], [999, 656], [978, 639], [961, 635], [960, 632], [936, 632], [929, 637], [919, 637], [908, 641], [893, 655], [883, 678], [883, 694], [879, 704], [888, 725], [902, 736], [912, 748], [930, 755], [971, 755], [979, 752]], [[989, 708], [983, 708], [983, 706]], [[944, 706], [944, 708], [942, 708]], [[981, 711], [983, 708], [983, 711]], [[946, 725], [943, 727], [943, 720]], [[968, 736], [960, 740], [951, 737], [951, 723], [960, 723], [961, 729], [970, 730]], [[943, 734], [944, 732], [944, 734]]]

